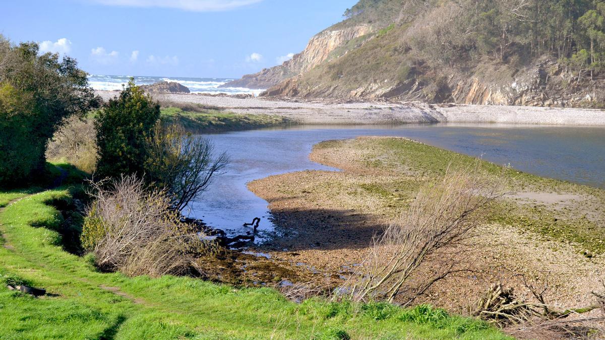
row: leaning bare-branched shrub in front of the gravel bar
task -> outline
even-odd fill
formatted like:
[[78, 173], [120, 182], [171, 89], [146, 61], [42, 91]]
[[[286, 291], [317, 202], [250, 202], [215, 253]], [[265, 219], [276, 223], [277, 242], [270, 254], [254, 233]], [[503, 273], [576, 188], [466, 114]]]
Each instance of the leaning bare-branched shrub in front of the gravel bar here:
[[[387, 299], [408, 306], [434, 283], [465, 271], [460, 260], [472, 249], [483, 208], [500, 197], [500, 180], [482, 175], [479, 164], [453, 171], [424, 186], [410, 209], [374, 238], [348, 283], [353, 298]], [[470, 246], [470, 247], [469, 247]]]

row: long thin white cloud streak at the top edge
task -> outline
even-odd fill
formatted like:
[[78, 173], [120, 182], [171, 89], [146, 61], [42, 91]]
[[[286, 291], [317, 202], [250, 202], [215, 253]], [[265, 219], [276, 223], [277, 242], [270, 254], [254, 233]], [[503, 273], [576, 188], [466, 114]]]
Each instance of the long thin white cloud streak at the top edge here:
[[88, 0], [103, 5], [128, 7], [165, 7], [186, 11], [226, 11], [263, 0]]

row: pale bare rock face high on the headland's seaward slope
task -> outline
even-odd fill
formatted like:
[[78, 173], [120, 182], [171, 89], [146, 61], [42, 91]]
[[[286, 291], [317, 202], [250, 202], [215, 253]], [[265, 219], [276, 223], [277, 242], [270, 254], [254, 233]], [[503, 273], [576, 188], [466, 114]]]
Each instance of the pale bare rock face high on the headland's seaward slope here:
[[[310, 39], [301, 53], [282, 65], [265, 68], [259, 73], [246, 74], [241, 79], [228, 82], [221, 87], [270, 88], [290, 77], [304, 73], [328, 59], [333, 51], [352, 39], [371, 33], [371, 25], [355, 25], [339, 29], [327, 29]], [[341, 53], [346, 53], [346, 49]]]

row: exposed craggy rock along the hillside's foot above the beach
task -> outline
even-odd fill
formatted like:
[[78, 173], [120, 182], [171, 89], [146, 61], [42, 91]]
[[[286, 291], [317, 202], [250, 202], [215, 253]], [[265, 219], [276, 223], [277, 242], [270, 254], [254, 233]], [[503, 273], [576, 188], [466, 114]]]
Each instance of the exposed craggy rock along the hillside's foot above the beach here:
[[261, 96], [554, 107], [600, 107], [605, 103], [605, 79], [590, 80], [584, 76], [578, 80], [577, 75], [552, 59], [520, 70], [490, 65], [471, 72], [442, 70], [439, 76], [420, 73], [405, 80], [393, 79], [388, 70], [380, 70], [374, 79], [352, 82], [355, 87], [345, 85], [347, 77], [342, 76], [338, 82], [315, 82], [312, 74], [301, 74], [269, 88]]

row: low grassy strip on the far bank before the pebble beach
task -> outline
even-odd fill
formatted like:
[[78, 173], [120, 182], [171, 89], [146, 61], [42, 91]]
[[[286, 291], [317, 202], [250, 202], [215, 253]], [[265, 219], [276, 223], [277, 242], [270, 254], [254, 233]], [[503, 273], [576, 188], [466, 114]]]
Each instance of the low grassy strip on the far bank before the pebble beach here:
[[188, 131], [197, 133], [239, 131], [295, 124], [293, 120], [286, 117], [269, 114], [237, 114], [212, 109], [193, 112], [175, 107], [162, 108], [162, 120], [167, 123], [178, 123]]

